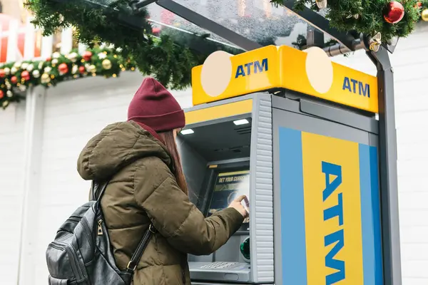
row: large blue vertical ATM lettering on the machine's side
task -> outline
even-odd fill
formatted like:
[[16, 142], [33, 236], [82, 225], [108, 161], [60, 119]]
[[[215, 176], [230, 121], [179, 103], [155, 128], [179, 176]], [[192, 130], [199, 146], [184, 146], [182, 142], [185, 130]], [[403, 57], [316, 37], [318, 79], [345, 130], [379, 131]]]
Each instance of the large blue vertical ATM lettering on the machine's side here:
[[[337, 188], [342, 185], [342, 167], [329, 162], [321, 162], [322, 172], [325, 174], [325, 189], [322, 191], [322, 200], [335, 199], [337, 204], [324, 210], [324, 221], [337, 217], [337, 231], [324, 237], [324, 246], [334, 246], [325, 256], [325, 266], [337, 270], [335, 273], [325, 276], [325, 284], [335, 284], [345, 279], [345, 261], [335, 259], [336, 254], [345, 246], [343, 233], [343, 194], [337, 193]], [[330, 177], [332, 175], [332, 177]], [[331, 180], [330, 180], [331, 179]]]

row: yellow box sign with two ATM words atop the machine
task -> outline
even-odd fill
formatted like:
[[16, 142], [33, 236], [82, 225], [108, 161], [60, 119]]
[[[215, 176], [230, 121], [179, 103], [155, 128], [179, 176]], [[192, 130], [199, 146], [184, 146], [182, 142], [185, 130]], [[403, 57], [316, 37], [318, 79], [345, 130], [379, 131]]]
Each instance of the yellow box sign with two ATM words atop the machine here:
[[[377, 113], [376, 77], [338, 63], [326, 63], [325, 58], [317, 58], [311, 52], [289, 46], [265, 46], [231, 56], [230, 81], [223, 93], [216, 96], [205, 92], [201, 82], [203, 66], [196, 66], [192, 70], [193, 105], [285, 88]], [[222, 71], [218, 68], [216, 72]], [[215, 76], [211, 80], [215, 81]]]

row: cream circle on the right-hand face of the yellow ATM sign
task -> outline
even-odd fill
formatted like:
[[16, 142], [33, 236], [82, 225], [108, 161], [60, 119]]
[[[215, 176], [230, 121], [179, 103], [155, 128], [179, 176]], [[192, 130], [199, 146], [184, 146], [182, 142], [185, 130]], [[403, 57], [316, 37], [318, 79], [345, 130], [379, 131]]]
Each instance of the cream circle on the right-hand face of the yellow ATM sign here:
[[318, 93], [327, 93], [333, 83], [332, 60], [322, 48], [311, 47], [305, 50], [306, 75], [310, 85]]

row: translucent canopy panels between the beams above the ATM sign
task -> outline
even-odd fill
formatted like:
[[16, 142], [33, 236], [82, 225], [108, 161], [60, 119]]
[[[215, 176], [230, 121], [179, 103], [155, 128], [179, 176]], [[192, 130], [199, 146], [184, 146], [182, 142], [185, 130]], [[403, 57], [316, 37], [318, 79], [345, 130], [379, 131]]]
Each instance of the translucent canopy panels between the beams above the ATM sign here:
[[[298, 47], [305, 46], [306, 43], [309, 25], [288, 9], [272, 6], [269, 0], [174, 1], [251, 41], [260, 43], [261, 46], [273, 44]], [[146, 9], [156, 31], [162, 34], [171, 33], [171, 27], [175, 29], [175, 41], [180, 41], [180, 33], [189, 31], [209, 34], [211, 39], [234, 46], [224, 38], [190, 23], [156, 3], [149, 4]], [[326, 34], [321, 41], [325, 46], [331, 44], [331, 38]]]

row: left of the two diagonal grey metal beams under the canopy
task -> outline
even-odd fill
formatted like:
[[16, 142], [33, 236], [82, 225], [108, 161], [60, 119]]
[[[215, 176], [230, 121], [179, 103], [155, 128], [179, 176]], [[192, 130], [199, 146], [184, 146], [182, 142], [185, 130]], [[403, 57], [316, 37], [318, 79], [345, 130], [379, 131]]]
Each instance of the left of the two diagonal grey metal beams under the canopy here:
[[183, 5], [176, 3], [175, 1], [158, 0], [156, 1], [156, 4], [180, 16], [181, 18], [190, 21], [190, 23], [193, 23], [196, 26], [199, 26], [200, 28], [204, 28], [205, 30], [210, 31], [211, 33], [215, 33], [217, 36], [224, 38], [226, 41], [230, 41], [230, 43], [233, 43], [236, 46], [243, 48], [243, 50], [245, 51], [252, 51], [253, 49], [263, 47], [259, 43], [251, 41], [250, 39], [245, 38], [245, 36], [241, 36], [239, 33], [230, 31], [228, 28], [225, 28], [224, 26], [215, 23], [215, 21], [205, 18], [204, 16], [186, 8]]

